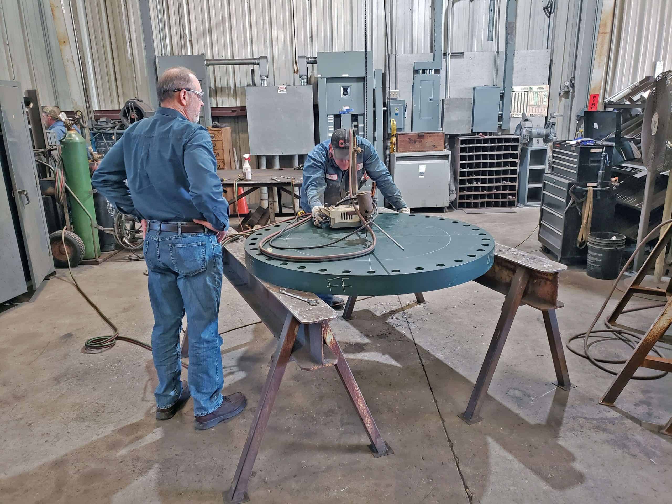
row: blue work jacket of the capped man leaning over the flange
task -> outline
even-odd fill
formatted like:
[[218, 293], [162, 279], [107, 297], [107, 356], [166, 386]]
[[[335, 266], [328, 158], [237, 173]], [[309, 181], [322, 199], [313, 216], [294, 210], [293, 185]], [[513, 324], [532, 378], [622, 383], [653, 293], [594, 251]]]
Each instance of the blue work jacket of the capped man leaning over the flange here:
[[[329, 153], [329, 144], [331, 139], [317, 144], [304, 163], [301, 208], [306, 213], [310, 213], [314, 206], [335, 205], [347, 195], [348, 172], [341, 170], [335, 163]], [[362, 187], [364, 175], [368, 175], [376, 182], [385, 200], [396, 210], [408, 206], [371, 142], [358, 136], [357, 144], [362, 148], [362, 152], [357, 155], [358, 187]]]

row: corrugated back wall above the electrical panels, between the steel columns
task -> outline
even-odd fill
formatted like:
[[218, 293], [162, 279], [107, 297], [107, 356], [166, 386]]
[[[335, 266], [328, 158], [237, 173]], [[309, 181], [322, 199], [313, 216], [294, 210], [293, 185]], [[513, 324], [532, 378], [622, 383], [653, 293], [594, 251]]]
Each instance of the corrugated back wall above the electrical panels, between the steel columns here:
[[[299, 83], [298, 55], [364, 50], [365, 15], [374, 67], [386, 65], [386, 17], [392, 54], [431, 52], [432, 0], [370, 0], [366, 13], [364, 0], [155, 0], [151, 3], [157, 54], [204, 52], [206, 58], [269, 56], [269, 85]], [[487, 1], [444, 2], [444, 23], [449, 19], [452, 24], [450, 50], [503, 47], [506, 1], [496, 1], [497, 23], [492, 42], [487, 42], [488, 5]], [[518, 2], [520, 50], [546, 48], [548, 18], [542, 5], [539, 0]], [[252, 83], [250, 67], [211, 67], [210, 72], [213, 106], [245, 105], [243, 88]]]

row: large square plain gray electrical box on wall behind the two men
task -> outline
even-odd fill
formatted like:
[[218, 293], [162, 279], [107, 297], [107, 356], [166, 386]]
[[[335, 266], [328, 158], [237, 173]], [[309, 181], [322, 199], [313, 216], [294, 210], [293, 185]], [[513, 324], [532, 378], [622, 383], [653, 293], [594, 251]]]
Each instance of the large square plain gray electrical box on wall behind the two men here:
[[[248, 86], [245, 98], [250, 154], [293, 155], [312, 151], [315, 146], [312, 86]], [[292, 126], [287, 127], [288, 124]]]

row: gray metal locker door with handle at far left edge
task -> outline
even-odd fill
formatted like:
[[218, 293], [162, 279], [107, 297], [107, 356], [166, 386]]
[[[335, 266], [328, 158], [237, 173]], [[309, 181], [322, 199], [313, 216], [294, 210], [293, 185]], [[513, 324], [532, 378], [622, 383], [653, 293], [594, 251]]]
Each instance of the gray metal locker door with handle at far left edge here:
[[49, 245], [22, 89], [15, 81], [0, 81], [0, 127], [32, 287], [37, 289], [44, 277], [54, 271], [54, 260]]

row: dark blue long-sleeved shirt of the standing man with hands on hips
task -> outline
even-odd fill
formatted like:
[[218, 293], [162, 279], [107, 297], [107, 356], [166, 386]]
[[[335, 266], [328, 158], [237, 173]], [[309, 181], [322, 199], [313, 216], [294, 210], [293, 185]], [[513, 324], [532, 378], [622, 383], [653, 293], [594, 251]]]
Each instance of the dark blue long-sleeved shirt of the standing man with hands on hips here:
[[216, 169], [208, 130], [159, 107], [124, 130], [91, 185], [124, 214], [161, 222], [207, 220], [225, 230], [228, 204]]

